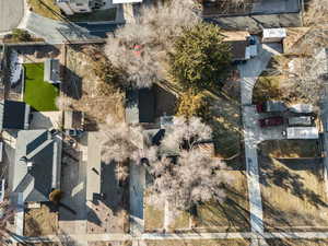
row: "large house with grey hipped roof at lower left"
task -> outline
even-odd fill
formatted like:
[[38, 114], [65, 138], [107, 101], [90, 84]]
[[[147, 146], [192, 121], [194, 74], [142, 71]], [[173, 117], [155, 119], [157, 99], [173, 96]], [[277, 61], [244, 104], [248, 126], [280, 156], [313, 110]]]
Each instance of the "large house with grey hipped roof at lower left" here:
[[46, 202], [59, 188], [60, 140], [48, 130], [19, 131], [12, 175], [12, 195], [23, 202]]

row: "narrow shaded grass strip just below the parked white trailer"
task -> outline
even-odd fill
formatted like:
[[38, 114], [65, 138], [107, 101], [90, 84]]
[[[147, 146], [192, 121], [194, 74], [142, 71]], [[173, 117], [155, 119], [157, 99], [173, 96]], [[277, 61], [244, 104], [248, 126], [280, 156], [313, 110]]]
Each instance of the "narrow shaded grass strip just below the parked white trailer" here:
[[271, 157], [317, 157], [317, 140], [269, 140], [259, 145], [262, 155]]

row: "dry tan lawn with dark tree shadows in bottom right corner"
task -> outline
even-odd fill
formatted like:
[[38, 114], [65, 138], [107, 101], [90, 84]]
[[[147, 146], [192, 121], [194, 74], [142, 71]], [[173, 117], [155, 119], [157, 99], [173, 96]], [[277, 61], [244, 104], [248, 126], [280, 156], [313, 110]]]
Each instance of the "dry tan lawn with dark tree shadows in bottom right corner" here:
[[267, 231], [327, 230], [324, 166], [315, 161], [279, 162], [259, 156]]

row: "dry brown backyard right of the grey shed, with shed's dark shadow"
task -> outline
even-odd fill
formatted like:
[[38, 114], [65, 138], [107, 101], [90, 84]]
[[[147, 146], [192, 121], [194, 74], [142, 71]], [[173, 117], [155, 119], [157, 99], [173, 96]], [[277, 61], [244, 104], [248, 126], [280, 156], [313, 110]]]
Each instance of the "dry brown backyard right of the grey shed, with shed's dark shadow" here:
[[78, 46], [68, 48], [63, 94], [74, 98], [72, 102], [74, 109], [86, 114], [89, 130], [96, 130], [92, 125], [104, 122], [107, 115], [124, 120], [124, 93], [97, 79], [93, 70], [94, 63], [80, 48]]

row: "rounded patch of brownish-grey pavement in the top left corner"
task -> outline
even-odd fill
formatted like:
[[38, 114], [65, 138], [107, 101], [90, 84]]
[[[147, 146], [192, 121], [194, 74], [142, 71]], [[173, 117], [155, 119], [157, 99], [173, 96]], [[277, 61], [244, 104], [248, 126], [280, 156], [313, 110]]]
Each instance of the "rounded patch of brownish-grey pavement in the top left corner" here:
[[24, 15], [24, 0], [0, 1], [0, 33], [17, 27]]

